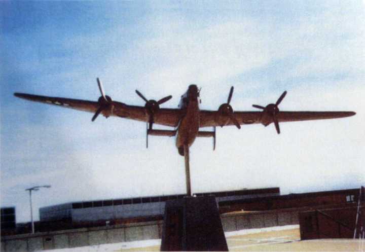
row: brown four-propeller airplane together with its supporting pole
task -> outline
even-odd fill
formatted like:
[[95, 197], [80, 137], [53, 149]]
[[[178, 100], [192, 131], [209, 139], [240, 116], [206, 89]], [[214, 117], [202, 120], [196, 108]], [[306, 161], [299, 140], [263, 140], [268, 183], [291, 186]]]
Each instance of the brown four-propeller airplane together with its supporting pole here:
[[[93, 122], [99, 114], [105, 118], [116, 116], [147, 123], [146, 147], [148, 148], [148, 136], [176, 136], [176, 148], [181, 156], [185, 157], [187, 194], [191, 195], [189, 148], [197, 137], [213, 137], [213, 150], [215, 150], [215, 127], [234, 125], [238, 129], [244, 124], [261, 123], [268, 126], [274, 123], [276, 132], [280, 134], [279, 122], [306, 121], [318, 119], [343, 118], [355, 115], [355, 112], [297, 112], [280, 111], [279, 104], [284, 99], [284, 91], [275, 103], [267, 106], [253, 104], [261, 111], [234, 111], [230, 105], [233, 90], [231, 87], [226, 103], [221, 104], [216, 111], [200, 110], [200, 90], [197, 85], [190, 85], [187, 92], [181, 96], [177, 109], [163, 109], [161, 104], [172, 98], [166, 96], [158, 101], [145, 98], [138, 90], [137, 95], [145, 101], [144, 106], [127, 105], [114, 101], [105, 95], [103, 85], [99, 78], [96, 79], [101, 96], [98, 101], [69, 99], [60, 97], [40, 96], [25, 93], [14, 93], [16, 97], [67, 107], [94, 113]], [[173, 127], [173, 130], [153, 129], [153, 124]], [[213, 127], [213, 131], [200, 130], [200, 128]]]

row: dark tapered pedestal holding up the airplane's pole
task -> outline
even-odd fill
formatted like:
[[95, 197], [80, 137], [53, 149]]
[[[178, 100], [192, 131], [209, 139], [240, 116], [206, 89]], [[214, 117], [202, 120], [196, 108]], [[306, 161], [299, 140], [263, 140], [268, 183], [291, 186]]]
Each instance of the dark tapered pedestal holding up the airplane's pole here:
[[166, 202], [161, 251], [228, 251], [214, 196]]

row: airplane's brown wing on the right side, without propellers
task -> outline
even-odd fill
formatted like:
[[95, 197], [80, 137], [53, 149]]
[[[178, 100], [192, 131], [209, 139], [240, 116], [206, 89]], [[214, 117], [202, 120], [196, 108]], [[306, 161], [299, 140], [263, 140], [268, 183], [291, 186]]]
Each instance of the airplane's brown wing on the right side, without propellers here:
[[[310, 111], [280, 111], [276, 114], [276, 118], [278, 122], [295, 122], [295, 121], [307, 121], [307, 120], [320, 120], [320, 119], [333, 119], [333, 118], [342, 118], [342, 117], [350, 117], [355, 115], [355, 112], [343, 112], [343, 111], [334, 111], [334, 112], [310, 112]], [[243, 124], [252, 124], [252, 123], [265, 123], [263, 121], [265, 116], [265, 112], [234, 112], [234, 118], [240, 125]], [[268, 124], [272, 123], [273, 120], [270, 120]], [[200, 111], [200, 127], [211, 127], [211, 126], [227, 126], [227, 125], [235, 125], [229, 117], [224, 117], [221, 115], [219, 111]], [[266, 123], [267, 125], [267, 123]]]

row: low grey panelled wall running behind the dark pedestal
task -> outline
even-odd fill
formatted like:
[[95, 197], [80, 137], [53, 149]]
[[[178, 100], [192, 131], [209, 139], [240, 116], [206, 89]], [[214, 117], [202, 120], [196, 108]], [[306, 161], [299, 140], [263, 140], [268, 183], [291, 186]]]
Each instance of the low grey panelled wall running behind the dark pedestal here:
[[[221, 219], [225, 232], [299, 223], [298, 210], [223, 214], [221, 215]], [[24, 252], [134, 240], [160, 239], [162, 225], [163, 221], [151, 221], [109, 227], [5, 236], [2, 237], [1, 251]]]

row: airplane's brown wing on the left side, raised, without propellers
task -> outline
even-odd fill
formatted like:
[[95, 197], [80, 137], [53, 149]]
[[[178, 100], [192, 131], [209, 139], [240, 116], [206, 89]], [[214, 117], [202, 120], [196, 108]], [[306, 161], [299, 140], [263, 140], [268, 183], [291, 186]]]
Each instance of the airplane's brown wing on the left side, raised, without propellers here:
[[[100, 108], [100, 103], [97, 101], [49, 97], [24, 93], [14, 93], [14, 95], [31, 101], [67, 107], [68, 109], [86, 111], [94, 114]], [[113, 113], [110, 113], [107, 116], [122, 117], [142, 122], [149, 121], [149, 116], [144, 106], [132, 106], [118, 101], [112, 101], [111, 104], [113, 105]], [[104, 112], [101, 113], [104, 114]], [[176, 127], [184, 115], [185, 111], [179, 109], [159, 109], [154, 114], [154, 123]]]

